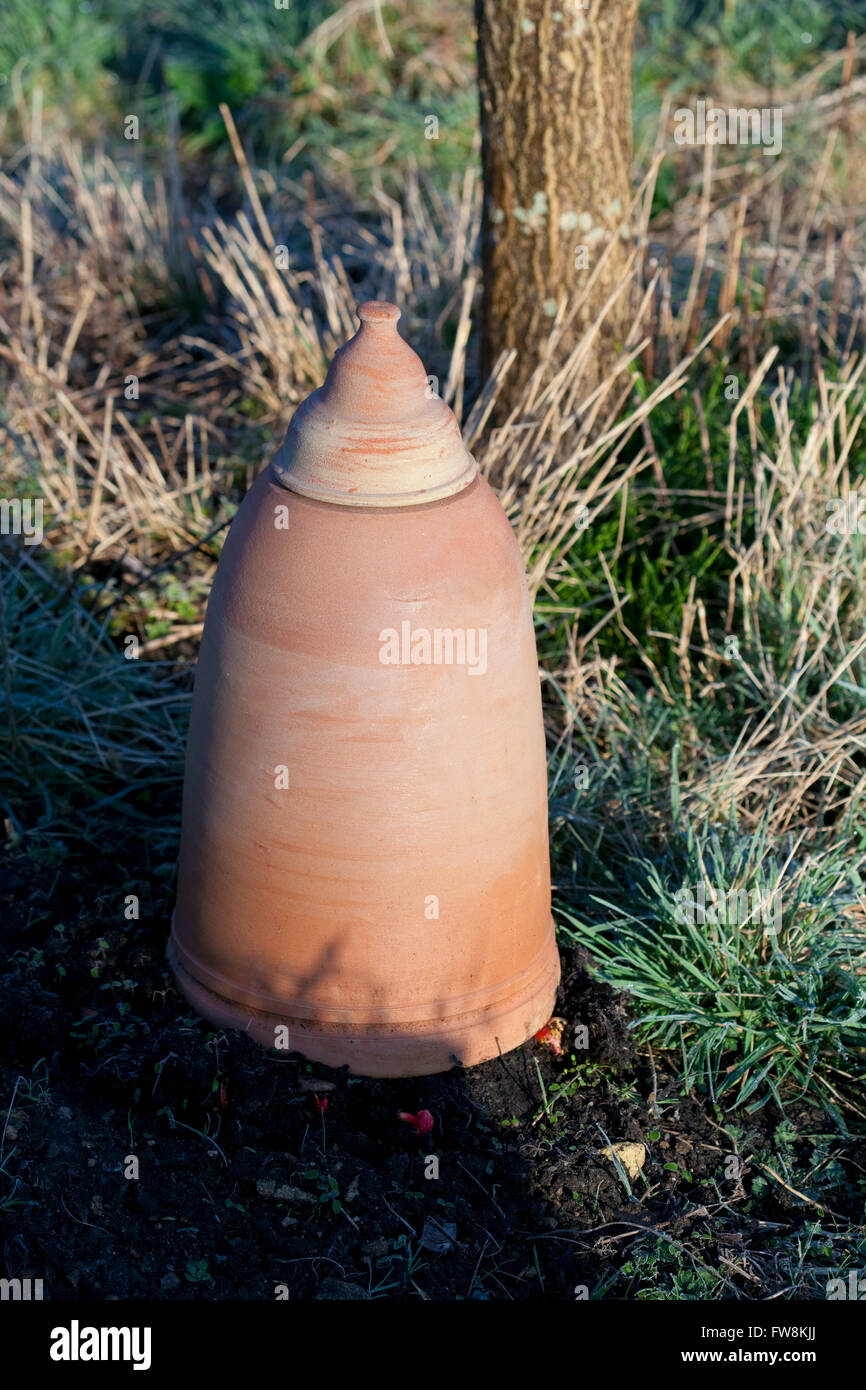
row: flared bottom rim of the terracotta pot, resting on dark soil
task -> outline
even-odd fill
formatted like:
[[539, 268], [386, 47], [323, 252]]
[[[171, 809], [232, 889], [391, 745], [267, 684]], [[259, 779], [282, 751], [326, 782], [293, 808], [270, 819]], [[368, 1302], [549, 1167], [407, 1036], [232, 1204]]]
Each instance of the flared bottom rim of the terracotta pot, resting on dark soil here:
[[285, 1051], [322, 1066], [348, 1066], [353, 1076], [432, 1076], [455, 1066], [477, 1066], [527, 1042], [553, 1013], [560, 977], [553, 923], [531, 981], [493, 1006], [423, 1023], [374, 1027], [313, 1023], [250, 1009], [203, 986], [178, 959], [174, 931], [165, 952], [183, 998], [210, 1023], [238, 1029], [261, 1047], [274, 1048], [277, 1029], [289, 1030]]

